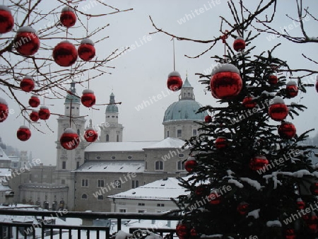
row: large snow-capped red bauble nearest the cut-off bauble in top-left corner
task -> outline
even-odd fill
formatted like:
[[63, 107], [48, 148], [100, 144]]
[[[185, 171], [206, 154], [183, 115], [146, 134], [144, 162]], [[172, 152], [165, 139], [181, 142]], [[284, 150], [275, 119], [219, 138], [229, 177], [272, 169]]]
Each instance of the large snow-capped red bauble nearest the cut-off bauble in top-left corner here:
[[24, 26], [18, 29], [13, 45], [23, 56], [32, 56], [40, 48], [40, 39], [33, 28]]

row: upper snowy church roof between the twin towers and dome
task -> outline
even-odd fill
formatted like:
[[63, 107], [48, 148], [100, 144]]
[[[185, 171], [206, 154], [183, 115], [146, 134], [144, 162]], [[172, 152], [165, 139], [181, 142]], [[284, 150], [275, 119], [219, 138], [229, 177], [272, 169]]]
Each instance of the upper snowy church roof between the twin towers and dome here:
[[137, 141], [137, 142], [97, 142], [86, 147], [86, 152], [104, 151], [143, 151], [143, 148], [151, 146], [158, 141]]

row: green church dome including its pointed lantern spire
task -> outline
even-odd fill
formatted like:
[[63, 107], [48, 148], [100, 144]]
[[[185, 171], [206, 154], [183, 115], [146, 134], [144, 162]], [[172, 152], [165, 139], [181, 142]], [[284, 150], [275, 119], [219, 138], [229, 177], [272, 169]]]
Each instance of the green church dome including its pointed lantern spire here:
[[206, 112], [196, 114], [201, 107], [202, 105], [194, 100], [193, 87], [186, 78], [181, 88], [179, 101], [167, 107], [163, 123], [175, 120], [204, 121], [204, 117], [208, 115]]

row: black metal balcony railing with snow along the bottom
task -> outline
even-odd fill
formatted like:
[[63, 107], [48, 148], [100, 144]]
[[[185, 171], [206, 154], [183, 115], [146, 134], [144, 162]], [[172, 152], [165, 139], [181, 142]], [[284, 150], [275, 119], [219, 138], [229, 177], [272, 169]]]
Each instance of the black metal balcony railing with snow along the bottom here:
[[[143, 224], [143, 226], [131, 227], [125, 226], [126, 233], [134, 231], [148, 230], [161, 235], [162, 238], [173, 238], [175, 236], [175, 225], [179, 221], [180, 216], [177, 213], [109, 213], [95, 211], [38, 211], [38, 210], [21, 210], [21, 209], [0, 209], [0, 215], [7, 215], [6, 221], [0, 221], [0, 238], [2, 239], [100, 239], [111, 238], [117, 231], [122, 230], [124, 220], [146, 221], [151, 223]], [[14, 218], [18, 216], [30, 216], [35, 221], [17, 221]], [[8, 219], [11, 218], [11, 221]], [[52, 223], [52, 218], [59, 218], [65, 223]], [[66, 225], [68, 218], [81, 218], [82, 225]], [[94, 226], [93, 221], [101, 221], [102, 226]], [[156, 223], [158, 221], [166, 221], [165, 223]], [[89, 222], [89, 223], [88, 223]], [[174, 222], [174, 223], [172, 223]], [[86, 225], [90, 224], [92, 225]], [[146, 226], [145, 226], [146, 225]]]

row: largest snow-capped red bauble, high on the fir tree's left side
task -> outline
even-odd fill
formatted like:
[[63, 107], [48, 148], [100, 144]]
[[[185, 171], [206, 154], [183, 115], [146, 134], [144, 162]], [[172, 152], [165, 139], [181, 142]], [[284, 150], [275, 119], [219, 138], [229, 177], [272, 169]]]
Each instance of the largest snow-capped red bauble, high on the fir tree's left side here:
[[240, 71], [232, 64], [220, 64], [211, 73], [211, 93], [217, 99], [231, 99], [242, 89]]

